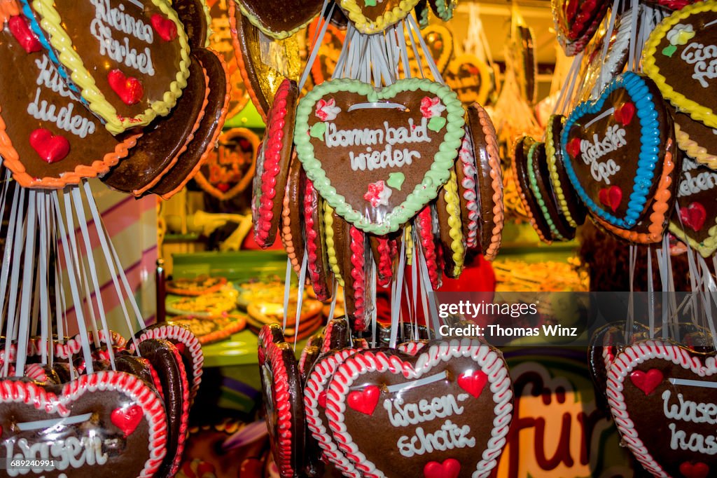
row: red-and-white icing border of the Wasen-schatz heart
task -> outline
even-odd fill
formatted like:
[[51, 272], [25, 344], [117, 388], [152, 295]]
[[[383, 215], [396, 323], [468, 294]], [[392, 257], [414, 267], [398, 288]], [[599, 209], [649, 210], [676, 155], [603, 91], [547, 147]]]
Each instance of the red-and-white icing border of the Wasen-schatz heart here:
[[[357, 358], [359, 355], [360, 359]], [[346, 455], [351, 456], [354, 465], [361, 465], [364, 475], [376, 478], [386, 476], [359, 451], [359, 447], [346, 431], [346, 423], [343, 422], [346, 396], [356, 378], [365, 373], [388, 370], [392, 373], [401, 373], [407, 379], [416, 379], [430, 372], [433, 367], [441, 365], [442, 362], [448, 362], [457, 357], [469, 357], [475, 360], [480, 370], [488, 375], [490, 390], [493, 392], [493, 401], [495, 402], [493, 430], [488, 440], [488, 446], [483, 451], [472, 478], [488, 478], [490, 476], [490, 472], [498, 464], [498, 458], [503, 452], [505, 437], [508, 435], [508, 428], [513, 419], [513, 388], [508, 367], [500, 352], [489, 345], [468, 338], [454, 339], [450, 342], [432, 342], [428, 350], [417, 355], [415, 359], [406, 357], [408, 360], [403, 360], [401, 355], [386, 355], [384, 352], [366, 350], [357, 352], [338, 365], [326, 394], [326, 410], [336, 416], [336, 419], [332, 419], [331, 414], [327, 413], [329, 426], [334, 436], [337, 436], [346, 447]], [[415, 362], [415, 365], [408, 362]]]

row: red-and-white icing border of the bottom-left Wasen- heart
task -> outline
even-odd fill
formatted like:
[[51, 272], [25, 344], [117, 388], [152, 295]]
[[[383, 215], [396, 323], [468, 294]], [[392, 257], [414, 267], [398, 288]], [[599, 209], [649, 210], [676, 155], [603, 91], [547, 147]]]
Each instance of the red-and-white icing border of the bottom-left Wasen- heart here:
[[0, 381], [0, 400], [11, 403], [24, 403], [37, 409], [44, 408], [47, 413], [57, 413], [62, 417], [70, 415], [68, 402], [76, 401], [85, 392], [96, 390], [118, 391], [128, 395], [133, 402], [142, 406], [144, 418], [148, 423], [149, 459], [145, 462], [138, 478], [154, 477], [166, 455], [167, 419], [164, 405], [148, 386], [139, 378], [125, 372], [103, 371], [92, 375], [81, 375], [77, 380], [62, 387], [59, 397], [32, 382], [19, 380]]

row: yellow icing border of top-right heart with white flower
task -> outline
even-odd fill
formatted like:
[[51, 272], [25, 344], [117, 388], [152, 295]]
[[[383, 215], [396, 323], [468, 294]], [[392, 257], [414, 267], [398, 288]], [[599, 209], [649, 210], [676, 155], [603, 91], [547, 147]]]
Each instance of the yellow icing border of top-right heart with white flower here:
[[669, 100], [670, 103], [679, 108], [680, 111], [688, 113], [695, 121], [701, 121], [707, 126], [717, 128], [717, 113], [712, 111], [711, 108], [702, 106], [695, 100], [690, 100], [682, 93], [676, 92], [674, 88], [667, 83], [665, 76], [660, 73], [660, 68], [655, 65], [657, 46], [663, 37], [668, 34], [670, 29], [683, 19], [690, 17], [690, 15], [701, 14], [706, 11], [717, 11], [717, 2], [700, 1], [696, 4], [685, 6], [683, 9], [675, 11], [670, 17], [663, 19], [663, 21], [652, 30], [650, 37], [647, 39], [647, 43], [645, 43], [645, 49], [642, 53], [642, 71], [655, 82], [665, 99]]

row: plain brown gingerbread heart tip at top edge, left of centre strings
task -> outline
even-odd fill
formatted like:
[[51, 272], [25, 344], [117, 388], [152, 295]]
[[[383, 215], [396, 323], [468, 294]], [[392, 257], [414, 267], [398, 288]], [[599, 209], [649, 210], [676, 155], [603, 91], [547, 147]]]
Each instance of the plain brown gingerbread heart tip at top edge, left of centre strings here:
[[237, 0], [237, 6], [262, 33], [276, 39], [290, 37], [313, 20], [323, 1], [290, 0], [277, 9], [263, 0]]

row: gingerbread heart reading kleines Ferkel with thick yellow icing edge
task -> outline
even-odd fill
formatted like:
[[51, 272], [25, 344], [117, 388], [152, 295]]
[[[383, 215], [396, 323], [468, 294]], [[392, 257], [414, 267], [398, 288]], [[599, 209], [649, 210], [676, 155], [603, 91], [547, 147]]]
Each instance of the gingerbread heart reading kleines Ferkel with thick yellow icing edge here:
[[[146, 126], [174, 107], [191, 60], [184, 27], [168, 2], [22, 3], [39, 41], [57, 54], [51, 59], [59, 60], [63, 80], [110, 133]], [[134, 27], [123, 27], [128, 24]]]

